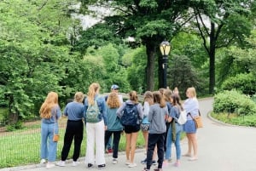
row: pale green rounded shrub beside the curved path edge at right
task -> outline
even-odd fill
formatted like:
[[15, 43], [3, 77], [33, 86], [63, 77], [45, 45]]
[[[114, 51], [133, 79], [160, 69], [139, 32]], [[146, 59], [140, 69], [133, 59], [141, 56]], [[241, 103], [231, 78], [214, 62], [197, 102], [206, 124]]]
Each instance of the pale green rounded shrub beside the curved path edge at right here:
[[249, 96], [241, 94], [237, 90], [230, 90], [214, 96], [213, 111], [253, 115], [256, 113], [256, 104]]

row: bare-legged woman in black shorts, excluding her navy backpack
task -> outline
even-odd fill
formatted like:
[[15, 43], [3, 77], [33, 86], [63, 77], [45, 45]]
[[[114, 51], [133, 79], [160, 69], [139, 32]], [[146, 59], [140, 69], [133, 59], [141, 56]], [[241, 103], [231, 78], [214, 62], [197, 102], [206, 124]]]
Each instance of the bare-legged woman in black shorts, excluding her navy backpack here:
[[123, 111], [125, 111], [125, 107], [135, 105], [136, 107], [136, 116], [137, 116], [137, 123], [135, 125], [125, 125], [125, 136], [126, 136], [126, 162], [125, 164], [128, 165], [129, 168], [136, 167], [137, 164], [134, 162], [134, 155], [136, 150], [136, 143], [137, 143], [137, 135], [138, 131], [140, 130], [140, 120], [143, 119], [143, 105], [138, 102], [137, 92], [131, 91], [129, 93], [130, 99], [126, 100], [123, 105], [121, 105], [117, 111], [117, 115], [119, 118], [123, 117]]

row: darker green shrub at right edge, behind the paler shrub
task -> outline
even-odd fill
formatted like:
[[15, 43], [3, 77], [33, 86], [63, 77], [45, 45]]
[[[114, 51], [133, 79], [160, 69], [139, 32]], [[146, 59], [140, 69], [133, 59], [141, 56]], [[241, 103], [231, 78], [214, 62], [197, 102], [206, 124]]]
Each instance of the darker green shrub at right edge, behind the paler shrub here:
[[229, 77], [221, 85], [221, 90], [240, 90], [243, 94], [253, 95], [256, 93], [256, 77], [253, 73], [238, 74], [236, 77]]

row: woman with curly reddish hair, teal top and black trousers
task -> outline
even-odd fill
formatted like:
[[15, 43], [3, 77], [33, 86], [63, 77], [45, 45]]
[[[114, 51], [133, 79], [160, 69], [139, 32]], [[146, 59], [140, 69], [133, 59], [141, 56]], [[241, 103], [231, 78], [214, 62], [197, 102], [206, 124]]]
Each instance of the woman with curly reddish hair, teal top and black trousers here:
[[107, 100], [108, 129], [105, 132], [105, 148], [113, 134], [113, 164], [118, 162], [119, 141], [120, 135], [123, 132], [123, 126], [116, 115], [120, 105], [119, 94], [116, 92], [110, 93]]

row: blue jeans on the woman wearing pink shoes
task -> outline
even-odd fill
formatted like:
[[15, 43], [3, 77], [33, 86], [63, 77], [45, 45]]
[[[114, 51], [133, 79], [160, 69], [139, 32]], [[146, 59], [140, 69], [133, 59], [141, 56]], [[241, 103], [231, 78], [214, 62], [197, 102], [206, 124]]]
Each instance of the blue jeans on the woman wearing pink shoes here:
[[[180, 148], [180, 135], [183, 130], [183, 126], [176, 124], [176, 140], [174, 142], [175, 149], [176, 149], [176, 157], [177, 160], [181, 157], [181, 148]], [[167, 133], [167, 140], [166, 140], [166, 159], [171, 159], [172, 156], [172, 126], [169, 128]]]

